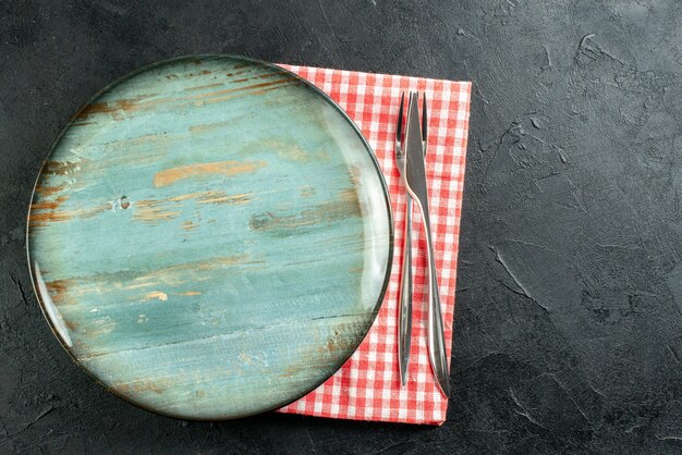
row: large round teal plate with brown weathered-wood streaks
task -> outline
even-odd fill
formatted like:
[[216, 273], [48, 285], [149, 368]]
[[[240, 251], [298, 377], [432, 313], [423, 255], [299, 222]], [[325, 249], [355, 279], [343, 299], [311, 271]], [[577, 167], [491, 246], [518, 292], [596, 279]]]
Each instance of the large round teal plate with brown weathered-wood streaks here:
[[284, 406], [369, 330], [392, 257], [386, 184], [325, 94], [272, 64], [187, 57], [88, 102], [38, 175], [34, 288], [109, 391], [184, 419]]

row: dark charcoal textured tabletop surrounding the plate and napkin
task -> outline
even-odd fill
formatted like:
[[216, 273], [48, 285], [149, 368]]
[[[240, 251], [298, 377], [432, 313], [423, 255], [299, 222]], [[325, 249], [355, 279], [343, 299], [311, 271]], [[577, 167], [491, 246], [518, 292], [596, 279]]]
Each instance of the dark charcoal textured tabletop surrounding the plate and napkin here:
[[[0, 4], [0, 453], [682, 451], [682, 4]], [[449, 421], [184, 422], [76, 368], [38, 309], [24, 220], [99, 88], [170, 57], [474, 82]]]

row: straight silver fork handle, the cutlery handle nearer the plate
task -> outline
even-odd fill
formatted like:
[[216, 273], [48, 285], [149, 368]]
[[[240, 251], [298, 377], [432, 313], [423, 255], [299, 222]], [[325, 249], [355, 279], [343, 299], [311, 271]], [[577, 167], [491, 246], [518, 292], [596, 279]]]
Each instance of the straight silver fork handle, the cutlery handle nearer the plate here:
[[405, 197], [405, 235], [398, 303], [398, 365], [401, 385], [407, 383], [412, 337], [412, 198], [407, 194]]

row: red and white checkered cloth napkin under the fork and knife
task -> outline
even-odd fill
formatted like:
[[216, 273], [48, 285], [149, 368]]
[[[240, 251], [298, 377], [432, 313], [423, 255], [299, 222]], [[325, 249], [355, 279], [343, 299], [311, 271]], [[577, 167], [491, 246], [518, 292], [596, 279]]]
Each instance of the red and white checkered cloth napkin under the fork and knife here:
[[466, 158], [471, 83], [283, 65], [328, 94], [348, 112], [375, 150], [391, 195], [395, 250], [391, 278], [369, 333], [353, 356], [322, 385], [279, 411], [355, 420], [441, 425], [448, 401], [436, 385], [426, 347], [426, 241], [415, 211], [414, 299], [409, 383], [400, 385], [397, 357], [398, 295], [403, 257], [405, 190], [393, 159], [401, 93], [425, 91], [428, 101], [428, 177], [431, 225], [448, 357], [458, 237]]

